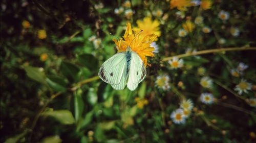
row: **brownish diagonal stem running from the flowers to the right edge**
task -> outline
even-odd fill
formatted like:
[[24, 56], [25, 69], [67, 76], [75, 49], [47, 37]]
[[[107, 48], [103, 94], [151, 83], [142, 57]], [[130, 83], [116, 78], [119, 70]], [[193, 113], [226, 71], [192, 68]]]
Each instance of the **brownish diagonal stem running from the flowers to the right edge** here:
[[226, 47], [221, 49], [203, 50], [195, 53], [187, 53], [187, 54], [181, 54], [181, 55], [172, 56], [172, 57], [166, 57], [166, 58], [163, 58], [162, 61], [168, 61], [173, 59], [174, 57], [183, 58], [183, 57], [210, 54], [210, 53], [219, 53], [219, 52], [225, 52], [225, 51], [245, 51], [245, 50], [256, 50], [256, 47]]

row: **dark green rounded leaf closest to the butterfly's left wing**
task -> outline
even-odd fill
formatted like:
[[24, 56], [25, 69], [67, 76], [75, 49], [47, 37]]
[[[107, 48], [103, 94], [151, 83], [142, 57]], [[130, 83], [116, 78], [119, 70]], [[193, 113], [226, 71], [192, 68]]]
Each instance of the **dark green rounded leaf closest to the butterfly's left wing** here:
[[78, 56], [78, 61], [87, 68], [98, 69], [98, 60], [91, 54], [82, 54]]

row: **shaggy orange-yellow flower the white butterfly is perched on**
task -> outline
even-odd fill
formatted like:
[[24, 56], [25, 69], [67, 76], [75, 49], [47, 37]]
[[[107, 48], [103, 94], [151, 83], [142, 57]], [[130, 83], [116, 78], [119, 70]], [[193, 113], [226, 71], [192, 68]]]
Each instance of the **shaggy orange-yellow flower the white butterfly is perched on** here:
[[[135, 37], [136, 36], [136, 37]], [[136, 52], [141, 60], [143, 61], [144, 65], [147, 65], [147, 59], [148, 57], [154, 57], [154, 54], [152, 53], [155, 49], [154, 47], [151, 47], [150, 44], [156, 39], [156, 35], [154, 34], [147, 34], [142, 35], [139, 34], [139, 32], [133, 32], [131, 23], [127, 23], [127, 28], [124, 33], [124, 40], [116, 40], [113, 39], [116, 43], [118, 52], [125, 52], [127, 46], [129, 45], [132, 49], [132, 51]], [[149, 65], [149, 64], [148, 64]]]

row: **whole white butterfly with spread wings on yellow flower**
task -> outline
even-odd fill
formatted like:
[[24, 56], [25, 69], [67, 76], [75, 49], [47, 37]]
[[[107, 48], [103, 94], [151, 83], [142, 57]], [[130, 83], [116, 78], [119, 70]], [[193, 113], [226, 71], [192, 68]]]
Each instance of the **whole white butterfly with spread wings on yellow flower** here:
[[99, 69], [99, 77], [114, 89], [135, 90], [146, 77], [146, 68], [139, 55], [127, 46], [125, 52], [117, 53], [106, 60]]

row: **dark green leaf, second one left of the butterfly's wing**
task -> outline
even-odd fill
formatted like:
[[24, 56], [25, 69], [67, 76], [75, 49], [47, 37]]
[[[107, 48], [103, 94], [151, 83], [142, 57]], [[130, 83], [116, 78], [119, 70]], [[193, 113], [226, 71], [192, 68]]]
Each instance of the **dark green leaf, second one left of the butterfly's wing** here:
[[77, 74], [79, 72], [79, 68], [69, 62], [62, 61], [60, 65], [60, 72], [67, 77], [70, 81], [74, 81], [77, 79]]

